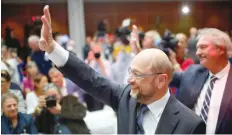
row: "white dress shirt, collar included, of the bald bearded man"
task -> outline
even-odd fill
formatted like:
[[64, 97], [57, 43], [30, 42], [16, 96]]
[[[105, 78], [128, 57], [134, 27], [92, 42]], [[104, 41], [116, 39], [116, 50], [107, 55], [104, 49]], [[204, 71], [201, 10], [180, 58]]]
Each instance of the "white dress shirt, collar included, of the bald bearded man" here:
[[145, 134], [155, 134], [160, 117], [164, 111], [164, 108], [169, 100], [170, 93], [167, 93], [159, 100], [147, 105], [149, 110], [145, 113], [143, 119], [143, 129]]

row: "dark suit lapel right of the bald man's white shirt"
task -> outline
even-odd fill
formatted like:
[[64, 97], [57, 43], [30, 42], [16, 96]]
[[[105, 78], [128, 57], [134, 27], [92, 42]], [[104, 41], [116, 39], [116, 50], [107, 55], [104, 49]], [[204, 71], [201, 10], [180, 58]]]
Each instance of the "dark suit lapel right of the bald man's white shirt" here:
[[172, 134], [179, 121], [179, 110], [176, 99], [170, 96], [166, 107], [161, 115], [155, 134]]

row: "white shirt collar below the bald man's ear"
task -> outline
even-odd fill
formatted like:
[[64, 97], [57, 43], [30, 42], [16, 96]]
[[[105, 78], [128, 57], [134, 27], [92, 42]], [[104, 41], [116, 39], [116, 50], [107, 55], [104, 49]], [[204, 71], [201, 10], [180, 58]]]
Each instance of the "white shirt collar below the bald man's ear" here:
[[161, 113], [163, 112], [168, 100], [170, 97], [170, 92], [169, 90], [167, 90], [167, 93], [159, 100], [147, 105], [147, 107], [149, 108], [149, 110], [152, 112], [152, 114], [158, 118]]

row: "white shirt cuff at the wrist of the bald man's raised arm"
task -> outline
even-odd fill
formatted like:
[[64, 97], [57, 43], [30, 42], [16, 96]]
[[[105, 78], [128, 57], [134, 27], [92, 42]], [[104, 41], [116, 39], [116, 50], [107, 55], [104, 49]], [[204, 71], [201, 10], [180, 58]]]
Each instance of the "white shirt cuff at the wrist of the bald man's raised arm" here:
[[63, 67], [68, 61], [69, 52], [56, 43], [54, 50], [50, 54], [46, 52], [46, 55], [57, 67]]

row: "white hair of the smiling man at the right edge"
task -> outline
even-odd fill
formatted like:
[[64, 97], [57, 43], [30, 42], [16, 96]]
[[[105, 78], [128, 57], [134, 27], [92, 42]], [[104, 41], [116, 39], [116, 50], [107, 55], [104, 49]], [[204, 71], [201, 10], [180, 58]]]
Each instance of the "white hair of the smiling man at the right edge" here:
[[204, 28], [199, 30], [198, 39], [202, 36], [212, 37], [212, 42], [215, 45], [225, 47], [227, 56], [232, 56], [232, 42], [230, 37], [225, 32], [215, 28]]

